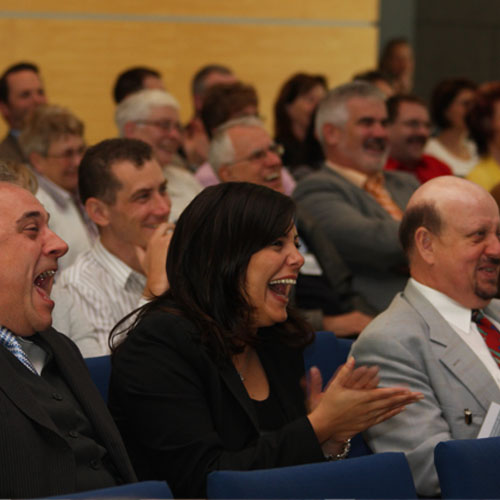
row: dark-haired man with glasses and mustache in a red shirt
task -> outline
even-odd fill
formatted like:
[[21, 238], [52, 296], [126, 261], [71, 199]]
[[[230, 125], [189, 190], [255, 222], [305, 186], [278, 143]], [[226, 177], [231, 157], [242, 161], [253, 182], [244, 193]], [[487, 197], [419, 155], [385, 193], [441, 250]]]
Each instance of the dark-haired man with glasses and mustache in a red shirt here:
[[414, 95], [395, 95], [387, 100], [389, 158], [386, 170], [413, 174], [421, 183], [440, 175], [451, 175], [441, 160], [424, 154], [430, 134], [430, 118], [425, 103]]

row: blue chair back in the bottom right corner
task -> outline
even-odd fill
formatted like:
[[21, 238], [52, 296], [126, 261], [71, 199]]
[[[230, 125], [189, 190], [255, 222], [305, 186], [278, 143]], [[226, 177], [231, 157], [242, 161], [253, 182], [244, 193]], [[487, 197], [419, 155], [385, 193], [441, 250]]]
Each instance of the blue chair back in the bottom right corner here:
[[441, 442], [434, 462], [443, 498], [500, 498], [500, 437]]

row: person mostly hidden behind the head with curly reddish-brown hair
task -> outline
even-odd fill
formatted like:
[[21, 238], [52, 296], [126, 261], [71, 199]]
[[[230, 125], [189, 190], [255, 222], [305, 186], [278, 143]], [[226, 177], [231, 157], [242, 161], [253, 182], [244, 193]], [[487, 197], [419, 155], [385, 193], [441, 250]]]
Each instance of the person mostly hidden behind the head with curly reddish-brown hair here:
[[[208, 64], [200, 68], [191, 82], [194, 115], [186, 125], [183, 140], [183, 152], [191, 170], [196, 171], [207, 161], [209, 138], [200, 119], [201, 108], [207, 91], [215, 85], [235, 83], [238, 78], [221, 64]], [[225, 121], [225, 120], [224, 120]]]

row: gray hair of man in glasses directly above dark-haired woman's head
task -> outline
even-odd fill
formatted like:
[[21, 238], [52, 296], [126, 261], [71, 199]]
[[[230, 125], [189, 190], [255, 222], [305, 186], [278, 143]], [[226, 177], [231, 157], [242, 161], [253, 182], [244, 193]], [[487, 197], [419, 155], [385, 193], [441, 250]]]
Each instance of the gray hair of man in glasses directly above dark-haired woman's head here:
[[210, 142], [208, 162], [217, 175], [221, 167], [234, 162], [234, 146], [228, 133], [234, 127], [264, 128], [264, 124], [256, 116], [242, 116], [228, 120], [215, 129], [212, 141]]

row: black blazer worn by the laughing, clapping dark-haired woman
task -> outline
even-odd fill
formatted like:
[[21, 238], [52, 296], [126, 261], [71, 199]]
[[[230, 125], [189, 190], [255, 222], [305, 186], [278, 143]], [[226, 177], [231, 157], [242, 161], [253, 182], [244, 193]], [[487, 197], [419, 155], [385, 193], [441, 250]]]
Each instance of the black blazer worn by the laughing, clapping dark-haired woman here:
[[260, 433], [232, 365], [219, 367], [187, 319], [153, 312], [113, 357], [109, 406], [140, 479], [166, 479], [175, 497], [205, 496], [206, 476], [323, 460], [306, 418], [301, 350], [258, 348], [287, 422]]

